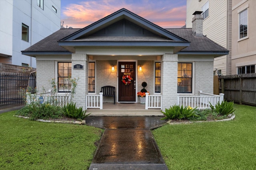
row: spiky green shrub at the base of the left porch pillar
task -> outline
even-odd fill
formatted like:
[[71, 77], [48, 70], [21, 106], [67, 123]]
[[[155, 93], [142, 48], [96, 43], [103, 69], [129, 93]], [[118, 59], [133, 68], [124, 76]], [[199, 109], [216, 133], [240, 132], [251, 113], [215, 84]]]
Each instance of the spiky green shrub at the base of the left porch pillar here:
[[76, 119], [85, 119], [88, 115], [83, 111], [83, 107], [76, 108], [76, 104], [74, 102], [70, 102], [68, 105], [63, 107], [64, 115], [67, 117], [72, 117]]

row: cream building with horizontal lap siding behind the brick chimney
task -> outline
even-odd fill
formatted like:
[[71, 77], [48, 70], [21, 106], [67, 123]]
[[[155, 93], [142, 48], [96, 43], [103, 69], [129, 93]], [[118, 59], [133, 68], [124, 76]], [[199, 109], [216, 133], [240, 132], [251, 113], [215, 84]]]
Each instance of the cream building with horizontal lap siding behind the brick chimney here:
[[204, 16], [203, 35], [230, 51], [229, 55], [214, 58], [214, 73], [230, 75], [232, 0], [187, 0], [187, 28], [192, 28], [195, 11], [202, 11]]

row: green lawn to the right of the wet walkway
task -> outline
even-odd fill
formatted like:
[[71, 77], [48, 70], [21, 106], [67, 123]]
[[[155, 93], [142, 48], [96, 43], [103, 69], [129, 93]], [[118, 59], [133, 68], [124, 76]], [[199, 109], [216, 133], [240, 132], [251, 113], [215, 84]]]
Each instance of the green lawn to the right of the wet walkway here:
[[152, 131], [169, 170], [256, 170], [256, 107], [233, 121], [165, 125]]

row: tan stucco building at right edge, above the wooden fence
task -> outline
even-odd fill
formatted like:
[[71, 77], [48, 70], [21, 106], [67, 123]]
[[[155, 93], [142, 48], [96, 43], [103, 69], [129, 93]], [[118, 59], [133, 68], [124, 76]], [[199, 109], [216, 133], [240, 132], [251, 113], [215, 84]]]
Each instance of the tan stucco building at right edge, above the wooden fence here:
[[232, 0], [232, 74], [255, 73], [255, 10], [255, 0]]

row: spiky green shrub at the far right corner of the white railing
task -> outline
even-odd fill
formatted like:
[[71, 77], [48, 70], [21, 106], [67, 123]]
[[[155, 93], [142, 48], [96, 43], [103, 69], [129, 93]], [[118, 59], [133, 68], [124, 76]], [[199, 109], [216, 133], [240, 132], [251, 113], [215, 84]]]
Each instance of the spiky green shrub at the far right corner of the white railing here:
[[210, 103], [210, 107], [213, 111], [215, 111], [216, 113], [218, 113], [219, 115], [229, 115], [231, 113], [233, 113], [236, 109], [234, 109], [234, 102], [218, 102], [218, 104], [214, 106], [212, 106], [212, 104]]

